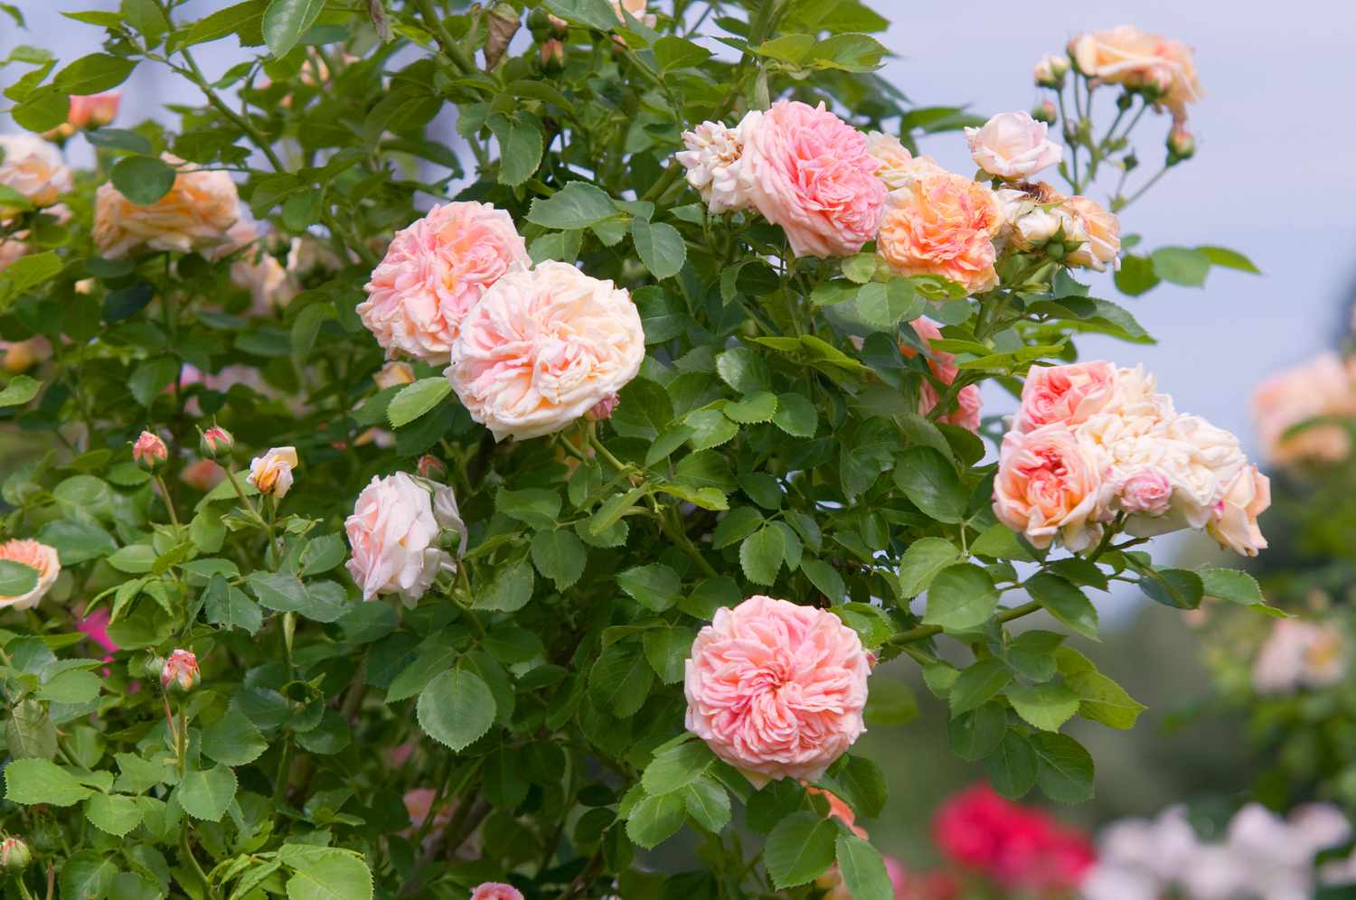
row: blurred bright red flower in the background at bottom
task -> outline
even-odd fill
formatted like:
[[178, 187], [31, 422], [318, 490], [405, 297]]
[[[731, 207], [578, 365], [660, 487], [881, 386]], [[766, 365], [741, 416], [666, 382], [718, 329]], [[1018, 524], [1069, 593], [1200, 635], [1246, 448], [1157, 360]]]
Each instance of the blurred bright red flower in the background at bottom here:
[[1003, 888], [1073, 889], [1096, 861], [1092, 842], [1045, 812], [975, 785], [933, 817], [933, 838], [952, 862]]

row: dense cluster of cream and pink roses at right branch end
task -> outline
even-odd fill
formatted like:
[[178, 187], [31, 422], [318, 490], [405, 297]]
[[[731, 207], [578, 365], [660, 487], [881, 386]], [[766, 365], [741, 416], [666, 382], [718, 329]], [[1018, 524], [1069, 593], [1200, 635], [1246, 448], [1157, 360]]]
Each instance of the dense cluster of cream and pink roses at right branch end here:
[[1205, 529], [1256, 556], [1268, 506], [1269, 480], [1238, 438], [1109, 362], [1031, 370], [994, 480], [994, 514], [1037, 548], [1083, 550], [1115, 522], [1135, 537]]

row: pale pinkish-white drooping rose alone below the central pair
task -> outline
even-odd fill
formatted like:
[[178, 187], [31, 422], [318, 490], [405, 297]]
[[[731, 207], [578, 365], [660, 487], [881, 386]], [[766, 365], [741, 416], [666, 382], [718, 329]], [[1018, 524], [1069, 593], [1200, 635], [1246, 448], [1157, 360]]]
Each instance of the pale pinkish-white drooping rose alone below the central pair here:
[[439, 572], [456, 572], [457, 561], [439, 541], [443, 529], [460, 531], [458, 554], [464, 552], [466, 526], [452, 488], [415, 481], [404, 472], [373, 476], [344, 522], [353, 549], [347, 568], [362, 599], [395, 594], [414, 606]]

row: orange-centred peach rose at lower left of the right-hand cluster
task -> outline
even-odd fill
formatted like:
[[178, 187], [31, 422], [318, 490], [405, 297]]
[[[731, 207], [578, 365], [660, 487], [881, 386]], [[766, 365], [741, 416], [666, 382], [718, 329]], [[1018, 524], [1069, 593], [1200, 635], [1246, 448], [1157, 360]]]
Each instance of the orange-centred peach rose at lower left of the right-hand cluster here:
[[1003, 435], [994, 515], [1033, 546], [1047, 548], [1056, 537], [1070, 550], [1094, 544], [1101, 495], [1101, 466], [1063, 423]]

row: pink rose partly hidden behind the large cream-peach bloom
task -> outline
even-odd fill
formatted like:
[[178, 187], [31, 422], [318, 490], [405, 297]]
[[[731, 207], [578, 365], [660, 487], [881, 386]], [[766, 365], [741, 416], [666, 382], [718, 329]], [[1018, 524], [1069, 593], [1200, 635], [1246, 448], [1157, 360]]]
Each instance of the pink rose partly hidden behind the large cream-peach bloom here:
[[515, 264], [530, 266], [513, 218], [490, 203], [445, 203], [396, 232], [358, 316], [386, 355], [445, 363], [462, 319]]

